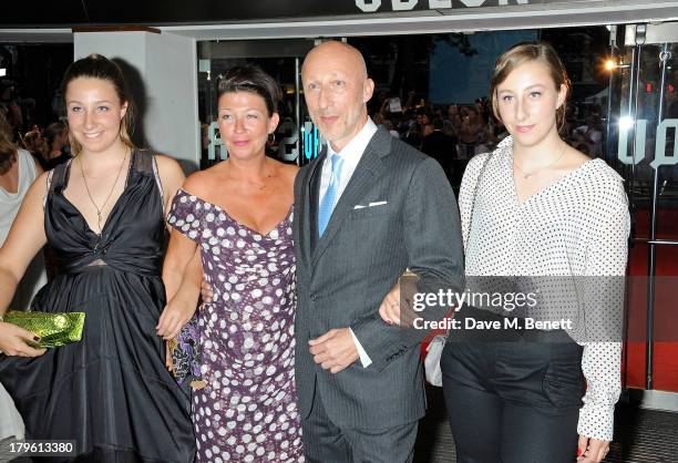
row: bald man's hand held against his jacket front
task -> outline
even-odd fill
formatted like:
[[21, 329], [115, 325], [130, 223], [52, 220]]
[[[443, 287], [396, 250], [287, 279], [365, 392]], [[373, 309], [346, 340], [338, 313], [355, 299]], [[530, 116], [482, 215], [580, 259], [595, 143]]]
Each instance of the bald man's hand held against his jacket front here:
[[360, 358], [348, 328], [329, 330], [308, 343], [314, 361], [331, 373], [340, 372]]

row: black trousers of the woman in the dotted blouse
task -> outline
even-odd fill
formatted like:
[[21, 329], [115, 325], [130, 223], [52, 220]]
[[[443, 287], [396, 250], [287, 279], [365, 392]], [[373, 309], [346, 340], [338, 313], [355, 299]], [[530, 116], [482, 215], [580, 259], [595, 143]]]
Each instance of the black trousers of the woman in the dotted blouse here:
[[576, 460], [583, 349], [567, 339], [448, 342], [441, 369], [459, 463]]

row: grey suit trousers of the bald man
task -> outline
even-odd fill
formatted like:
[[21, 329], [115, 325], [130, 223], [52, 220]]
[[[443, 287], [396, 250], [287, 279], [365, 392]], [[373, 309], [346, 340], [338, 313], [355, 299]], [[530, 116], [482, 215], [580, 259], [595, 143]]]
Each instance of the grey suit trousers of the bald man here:
[[316, 391], [310, 415], [301, 420], [307, 463], [411, 463], [418, 422], [382, 429], [337, 426]]

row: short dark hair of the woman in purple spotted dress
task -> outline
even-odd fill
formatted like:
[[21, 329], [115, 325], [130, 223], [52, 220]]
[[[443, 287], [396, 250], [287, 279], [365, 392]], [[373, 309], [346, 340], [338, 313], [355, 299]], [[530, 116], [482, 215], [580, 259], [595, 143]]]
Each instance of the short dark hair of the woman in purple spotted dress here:
[[278, 112], [278, 103], [282, 100], [282, 91], [276, 80], [254, 65], [232, 68], [226, 72], [219, 82], [217, 97], [234, 92], [248, 92], [261, 96], [269, 117]]

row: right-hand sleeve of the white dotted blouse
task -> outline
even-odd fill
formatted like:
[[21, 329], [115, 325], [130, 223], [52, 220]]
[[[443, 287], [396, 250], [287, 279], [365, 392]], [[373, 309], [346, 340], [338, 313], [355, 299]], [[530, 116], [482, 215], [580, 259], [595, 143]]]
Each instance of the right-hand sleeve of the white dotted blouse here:
[[615, 404], [622, 392], [620, 326], [630, 217], [620, 184], [607, 213], [603, 210], [600, 220], [593, 225], [586, 251], [587, 286], [597, 289], [587, 295], [588, 339], [582, 342], [587, 389], [577, 432], [604, 441], [613, 440]]

